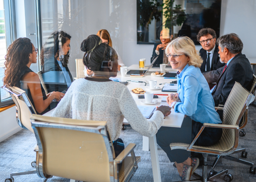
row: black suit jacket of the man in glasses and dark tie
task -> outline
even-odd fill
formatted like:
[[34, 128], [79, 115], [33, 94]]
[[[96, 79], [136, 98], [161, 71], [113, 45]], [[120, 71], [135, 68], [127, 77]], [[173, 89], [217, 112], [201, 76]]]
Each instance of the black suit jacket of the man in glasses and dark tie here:
[[[210, 71], [217, 70], [217, 69], [219, 69], [219, 68], [221, 68], [225, 65], [225, 63], [221, 63], [219, 61], [218, 52], [219, 52], [219, 48], [218, 48], [218, 45], [216, 44], [213, 55], [212, 55], [212, 62], [211, 62], [211, 70]], [[207, 54], [207, 51], [204, 50], [203, 48], [200, 49], [199, 53], [200, 53], [200, 56], [203, 59], [203, 63], [202, 63], [202, 66], [200, 67], [200, 70], [201, 70], [202, 73], [204, 73], [204, 72], [206, 72], [205, 71], [205, 66], [206, 66], [206, 61], [207, 61], [208, 54]]]

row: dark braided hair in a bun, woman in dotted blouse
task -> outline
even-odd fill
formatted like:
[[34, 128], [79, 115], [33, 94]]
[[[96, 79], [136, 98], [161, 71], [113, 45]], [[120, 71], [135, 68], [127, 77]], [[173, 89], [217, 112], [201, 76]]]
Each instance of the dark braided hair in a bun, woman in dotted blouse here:
[[81, 51], [85, 52], [83, 64], [91, 71], [104, 71], [101, 67], [102, 61], [117, 59], [116, 51], [107, 44], [103, 44], [97, 35], [90, 35], [83, 40]]

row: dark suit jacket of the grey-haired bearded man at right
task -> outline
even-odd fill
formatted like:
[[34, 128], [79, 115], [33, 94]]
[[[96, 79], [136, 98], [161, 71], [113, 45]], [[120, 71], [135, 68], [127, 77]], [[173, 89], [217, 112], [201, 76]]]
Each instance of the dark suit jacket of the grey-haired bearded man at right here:
[[208, 83], [216, 82], [212, 91], [215, 106], [225, 104], [235, 82], [250, 90], [253, 82], [253, 71], [249, 60], [242, 53], [237, 54], [226, 67], [203, 73]]

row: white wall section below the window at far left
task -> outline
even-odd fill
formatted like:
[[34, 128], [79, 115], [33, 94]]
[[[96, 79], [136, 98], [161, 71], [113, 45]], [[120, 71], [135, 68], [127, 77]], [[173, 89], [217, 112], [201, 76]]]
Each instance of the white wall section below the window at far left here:
[[0, 142], [22, 130], [16, 121], [15, 106], [0, 112], [0, 118]]

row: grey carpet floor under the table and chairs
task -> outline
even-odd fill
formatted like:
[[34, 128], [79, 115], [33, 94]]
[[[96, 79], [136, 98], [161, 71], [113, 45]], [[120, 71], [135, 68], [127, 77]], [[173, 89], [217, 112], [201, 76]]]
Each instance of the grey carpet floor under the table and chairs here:
[[[238, 149], [245, 148], [248, 151], [248, 156], [245, 160], [256, 163], [256, 108], [253, 106], [249, 106], [249, 120], [245, 131], [246, 135], [240, 137]], [[142, 151], [142, 135], [138, 134], [131, 127], [127, 127], [127, 130], [121, 132], [120, 138], [123, 139], [125, 145], [136, 143], [135, 155], [141, 156], [139, 168], [131, 181], [153, 182], [150, 151]], [[33, 169], [30, 163], [35, 160], [33, 147], [36, 143], [34, 135], [28, 130], [21, 130], [0, 143], [0, 182], [4, 182], [5, 178], [10, 177], [11, 172]], [[179, 181], [180, 178], [176, 168], [173, 167], [173, 163], [169, 161], [167, 155], [159, 146], [158, 155], [162, 182]], [[241, 158], [240, 153], [233, 154], [233, 156], [244, 159]], [[213, 157], [208, 157], [208, 173], [213, 161]], [[256, 182], [256, 175], [250, 174], [249, 168], [247, 165], [222, 159], [222, 162], [218, 163], [215, 170], [228, 169], [229, 173], [233, 175], [234, 182]], [[202, 175], [202, 167], [198, 167], [195, 172]], [[40, 182], [41, 180], [42, 178], [39, 178], [37, 174], [14, 177], [15, 182]], [[48, 181], [68, 182], [69, 179], [53, 177], [48, 179]], [[224, 182], [223, 176], [215, 179], [215, 181]]]

